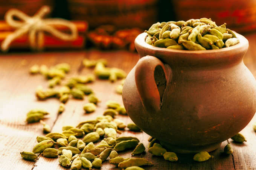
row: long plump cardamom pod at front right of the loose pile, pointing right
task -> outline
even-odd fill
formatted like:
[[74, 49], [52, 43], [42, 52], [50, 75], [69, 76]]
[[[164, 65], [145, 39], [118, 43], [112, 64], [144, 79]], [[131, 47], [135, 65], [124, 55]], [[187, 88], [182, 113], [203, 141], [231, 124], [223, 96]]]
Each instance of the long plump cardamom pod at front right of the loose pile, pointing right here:
[[118, 164], [119, 168], [127, 168], [131, 166], [142, 166], [142, 165], [153, 165], [152, 162], [149, 162], [147, 159], [144, 158], [130, 158], [126, 161], [120, 162]]

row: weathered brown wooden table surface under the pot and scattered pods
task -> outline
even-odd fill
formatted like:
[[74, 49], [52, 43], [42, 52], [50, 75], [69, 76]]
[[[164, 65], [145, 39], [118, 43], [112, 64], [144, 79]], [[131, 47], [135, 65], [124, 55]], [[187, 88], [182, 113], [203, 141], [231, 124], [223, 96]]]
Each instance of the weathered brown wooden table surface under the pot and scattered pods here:
[[[245, 65], [256, 76], [256, 34], [246, 35], [249, 41], [249, 50], [244, 58]], [[114, 92], [114, 88], [120, 81], [110, 83], [107, 80], [97, 80], [88, 86], [92, 87], [96, 95], [101, 99], [96, 112], [85, 114], [82, 108], [87, 102], [84, 100], [70, 99], [66, 104], [66, 110], [58, 114], [59, 101], [57, 99], [47, 99], [38, 101], [35, 97], [35, 88], [39, 85], [47, 87], [47, 81], [42, 75], [30, 75], [30, 66], [34, 64], [45, 64], [53, 66], [57, 63], [66, 62], [71, 65], [71, 71], [67, 77], [73, 75], [86, 75], [91, 73], [91, 69], [82, 67], [82, 59], [108, 60], [110, 67], [124, 69], [127, 73], [133, 68], [138, 60], [136, 53], [127, 51], [99, 51], [88, 50], [79, 52], [46, 52], [46, 53], [11, 53], [0, 56], [0, 169], [19, 169], [19, 170], [56, 170], [66, 169], [59, 165], [58, 159], [38, 156], [38, 160], [26, 161], [21, 159], [20, 152], [23, 150], [31, 151], [37, 144], [36, 137], [43, 135], [40, 123], [27, 124], [25, 122], [26, 113], [33, 108], [43, 108], [50, 113], [45, 122], [52, 127], [52, 132], [61, 132], [64, 125], [76, 126], [79, 122], [87, 119], [94, 119], [102, 115], [105, 109], [105, 102], [109, 99], [122, 102], [121, 95]], [[128, 116], [116, 116], [126, 124], [132, 122]], [[213, 152], [214, 156], [206, 162], [193, 161], [193, 155], [177, 154], [177, 162], [165, 161], [163, 157], [152, 156], [151, 153], [143, 153], [136, 157], [149, 159], [154, 166], [144, 166], [145, 170], [246, 170], [256, 169], [256, 134], [252, 124], [256, 122], [256, 116], [241, 131], [247, 138], [247, 142], [238, 144], [232, 142], [234, 152], [232, 155], [223, 154], [224, 146], [227, 141], [222, 142], [221, 147]], [[144, 132], [131, 132], [126, 129], [120, 136], [133, 135], [145, 145], [148, 145], [148, 135]], [[147, 150], [147, 148], [146, 148]], [[131, 150], [121, 152], [121, 156], [130, 157]], [[105, 161], [102, 170], [117, 170], [115, 165]]]

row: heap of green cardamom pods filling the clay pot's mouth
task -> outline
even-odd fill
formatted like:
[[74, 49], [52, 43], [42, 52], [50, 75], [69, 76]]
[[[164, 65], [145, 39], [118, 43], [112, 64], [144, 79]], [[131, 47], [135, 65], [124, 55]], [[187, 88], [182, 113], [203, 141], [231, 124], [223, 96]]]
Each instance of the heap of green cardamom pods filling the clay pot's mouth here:
[[217, 26], [210, 18], [158, 22], [145, 32], [148, 33], [146, 43], [177, 50], [214, 50], [239, 43], [226, 23]]

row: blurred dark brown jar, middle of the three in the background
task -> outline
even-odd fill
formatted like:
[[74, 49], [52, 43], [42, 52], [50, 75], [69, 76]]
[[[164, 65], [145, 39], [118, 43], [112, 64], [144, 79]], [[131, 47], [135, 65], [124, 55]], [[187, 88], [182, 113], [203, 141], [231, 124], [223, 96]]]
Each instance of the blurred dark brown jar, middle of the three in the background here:
[[148, 29], [157, 22], [158, 0], [68, 0], [72, 20], [86, 20], [89, 27], [113, 24], [118, 28]]

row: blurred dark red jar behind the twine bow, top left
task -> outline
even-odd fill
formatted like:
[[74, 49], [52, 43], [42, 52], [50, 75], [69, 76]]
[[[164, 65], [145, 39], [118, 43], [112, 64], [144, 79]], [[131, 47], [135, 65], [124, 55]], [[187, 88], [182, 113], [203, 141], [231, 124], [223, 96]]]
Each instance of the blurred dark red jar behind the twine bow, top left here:
[[34, 15], [43, 5], [53, 5], [53, 0], [1, 0], [0, 1], [0, 20], [3, 20], [5, 13], [16, 8], [23, 11], [25, 14]]

